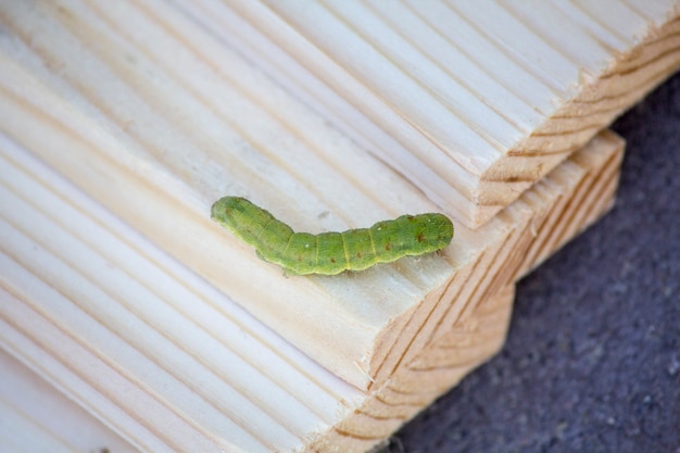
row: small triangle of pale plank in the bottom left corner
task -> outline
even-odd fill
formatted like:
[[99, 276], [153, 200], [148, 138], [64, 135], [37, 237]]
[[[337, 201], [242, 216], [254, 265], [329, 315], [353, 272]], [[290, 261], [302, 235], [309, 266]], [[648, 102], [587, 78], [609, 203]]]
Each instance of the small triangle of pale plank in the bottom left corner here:
[[135, 453], [92, 414], [0, 349], [0, 445], [11, 453]]

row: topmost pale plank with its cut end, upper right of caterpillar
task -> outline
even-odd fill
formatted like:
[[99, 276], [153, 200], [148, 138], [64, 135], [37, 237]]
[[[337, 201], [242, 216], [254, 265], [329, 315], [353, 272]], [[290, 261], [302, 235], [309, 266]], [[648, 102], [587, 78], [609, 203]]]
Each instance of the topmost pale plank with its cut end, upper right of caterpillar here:
[[468, 227], [680, 64], [677, 0], [185, 8]]

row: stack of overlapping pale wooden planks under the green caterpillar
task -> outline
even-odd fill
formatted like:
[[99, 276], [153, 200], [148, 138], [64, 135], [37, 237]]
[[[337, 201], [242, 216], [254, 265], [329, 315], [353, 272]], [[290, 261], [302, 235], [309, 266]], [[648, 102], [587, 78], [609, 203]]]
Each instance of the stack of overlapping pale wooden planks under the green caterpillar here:
[[[670, 0], [1, 4], [8, 367], [116, 445], [369, 450], [502, 347], [514, 282], [612, 205], [624, 142], [604, 129], [680, 66], [679, 16]], [[455, 237], [286, 276], [211, 222], [224, 194], [311, 232], [443, 212]], [[9, 393], [16, 426], [40, 419]]]

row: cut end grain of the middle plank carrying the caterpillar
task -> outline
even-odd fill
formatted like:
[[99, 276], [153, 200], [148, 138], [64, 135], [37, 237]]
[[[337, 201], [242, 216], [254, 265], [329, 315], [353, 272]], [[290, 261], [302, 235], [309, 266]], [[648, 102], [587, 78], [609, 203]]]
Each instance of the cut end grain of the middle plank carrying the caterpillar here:
[[[386, 381], [390, 364], [408, 362], [424, 344], [448, 335], [459, 316], [600, 215], [604, 206], [593, 203], [613, 199], [622, 146], [614, 134], [603, 133], [488, 225], [473, 231], [459, 227], [461, 242], [449, 249], [448, 256], [456, 263], [455, 272], [440, 287], [443, 292], [431, 291], [413, 311], [395, 315], [378, 337], [380, 348], [369, 368], [372, 385]], [[539, 231], [543, 235], [534, 238]]]

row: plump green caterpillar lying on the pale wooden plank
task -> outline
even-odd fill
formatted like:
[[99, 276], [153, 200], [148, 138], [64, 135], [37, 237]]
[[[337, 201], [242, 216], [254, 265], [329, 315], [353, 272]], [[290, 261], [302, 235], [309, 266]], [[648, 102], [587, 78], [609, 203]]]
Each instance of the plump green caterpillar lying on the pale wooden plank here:
[[453, 238], [453, 224], [442, 214], [402, 215], [370, 228], [312, 235], [294, 232], [240, 197], [221, 198], [211, 211], [213, 221], [253, 246], [262, 260], [294, 275], [363, 270], [377, 263], [441, 250]]

